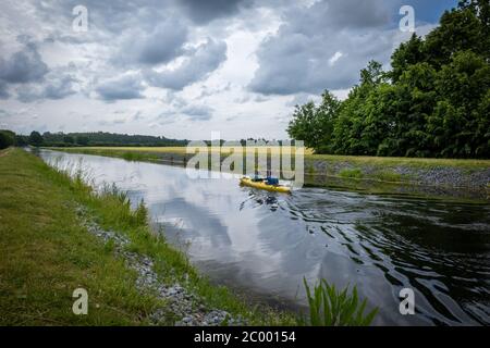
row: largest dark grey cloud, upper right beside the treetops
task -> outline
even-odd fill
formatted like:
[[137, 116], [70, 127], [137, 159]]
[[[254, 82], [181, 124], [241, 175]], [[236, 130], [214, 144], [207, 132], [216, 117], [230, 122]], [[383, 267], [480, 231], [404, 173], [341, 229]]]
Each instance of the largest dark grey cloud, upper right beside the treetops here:
[[249, 88], [265, 95], [318, 94], [350, 88], [371, 59], [390, 55], [390, 21], [383, 0], [319, 1], [285, 14], [277, 35], [257, 52], [259, 69]]

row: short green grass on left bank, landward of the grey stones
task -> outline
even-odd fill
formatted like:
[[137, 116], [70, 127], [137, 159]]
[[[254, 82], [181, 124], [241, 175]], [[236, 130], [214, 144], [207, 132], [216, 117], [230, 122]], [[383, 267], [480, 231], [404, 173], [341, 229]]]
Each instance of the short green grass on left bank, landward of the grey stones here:
[[[147, 324], [162, 302], [138, 294], [136, 274], [81, 226], [76, 185], [10, 150], [0, 157], [0, 324]], [[78, 287], [88, 291], [88, 315], [72, 312]]]

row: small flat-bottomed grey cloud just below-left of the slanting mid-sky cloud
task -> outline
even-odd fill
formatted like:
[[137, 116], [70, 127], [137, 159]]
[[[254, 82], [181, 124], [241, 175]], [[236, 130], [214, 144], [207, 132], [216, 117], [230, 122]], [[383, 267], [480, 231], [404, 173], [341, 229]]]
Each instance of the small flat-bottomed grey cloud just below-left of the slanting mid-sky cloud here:
[[101, 99], [113, 101], [144, 98], [142, 95], [143, 89], [144, 86], [139, 76], [126, 75], [101, 83], [97, 86], [96, 91]]

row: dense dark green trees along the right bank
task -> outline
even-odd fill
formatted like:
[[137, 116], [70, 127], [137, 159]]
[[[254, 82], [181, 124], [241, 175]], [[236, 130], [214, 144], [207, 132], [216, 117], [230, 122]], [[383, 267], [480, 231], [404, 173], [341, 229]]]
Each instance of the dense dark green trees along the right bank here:
[[490, 158], [490, 3], [461, 1], [424, 39], [371, 61], [344, 101], [326, 90], [287, 132], [319, 153]]

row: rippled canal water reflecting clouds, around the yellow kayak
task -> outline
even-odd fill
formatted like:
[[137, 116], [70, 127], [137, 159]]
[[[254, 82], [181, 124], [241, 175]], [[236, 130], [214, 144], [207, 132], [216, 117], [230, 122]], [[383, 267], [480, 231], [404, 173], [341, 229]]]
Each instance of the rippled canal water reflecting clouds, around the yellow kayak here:
[[[41, 151], [142, 198], [169, 240], [217, 283], [299, 310], [303, 277], [358, 286], [375, 324], [490, 324], [490, 204], [304, 188], [293, 195], [191, 179], [184, 169]], [[415, 315], [399, 293], [415, 291]]]

